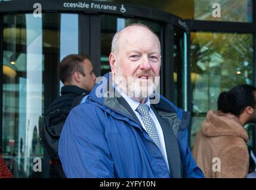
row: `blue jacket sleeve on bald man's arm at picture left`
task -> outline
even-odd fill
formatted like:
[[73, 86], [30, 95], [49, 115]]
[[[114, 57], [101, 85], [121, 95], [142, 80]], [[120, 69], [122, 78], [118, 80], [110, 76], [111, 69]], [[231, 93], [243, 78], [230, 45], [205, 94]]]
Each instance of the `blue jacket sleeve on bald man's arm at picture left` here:
[[58, 155], [67, 178], [114, 177], [100, 108], [84, 103], [70, 112], [60, 135]]

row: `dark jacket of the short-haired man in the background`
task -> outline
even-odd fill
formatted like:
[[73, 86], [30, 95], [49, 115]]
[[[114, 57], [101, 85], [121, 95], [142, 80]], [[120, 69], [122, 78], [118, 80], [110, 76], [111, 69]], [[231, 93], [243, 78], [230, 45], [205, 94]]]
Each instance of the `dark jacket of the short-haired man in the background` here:
[[58, 158], [58, 141], [67, 115], [79, 104], [84, 94], [88, 94], [88, 91], [76, 85], [65, 85], [61, 88], [61, 96], [58, 96], [45, 112], [45, 125], [41, 131], [41, 138], [51, 159], [51, 178], [66, 177]]

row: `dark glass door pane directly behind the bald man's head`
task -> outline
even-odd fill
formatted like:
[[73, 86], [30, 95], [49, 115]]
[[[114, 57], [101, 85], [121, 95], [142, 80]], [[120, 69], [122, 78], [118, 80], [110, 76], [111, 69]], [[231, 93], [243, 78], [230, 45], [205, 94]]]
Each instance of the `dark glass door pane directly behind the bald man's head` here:
[[[101, 66], [100, 74], [103, 76], [107, 72], [111, 71], [109, 65], [109, 54], [111, 52], [111, 42], [116, 31], [124, 29], [132, 23], [146, 24], [152, 29], [160, 38], [161, 25], [146, 20], [138, 20], [134, 18], [118, 18], [110, 15], [101, 16]], [[160, 38], [161, 39], [161, 38]]]

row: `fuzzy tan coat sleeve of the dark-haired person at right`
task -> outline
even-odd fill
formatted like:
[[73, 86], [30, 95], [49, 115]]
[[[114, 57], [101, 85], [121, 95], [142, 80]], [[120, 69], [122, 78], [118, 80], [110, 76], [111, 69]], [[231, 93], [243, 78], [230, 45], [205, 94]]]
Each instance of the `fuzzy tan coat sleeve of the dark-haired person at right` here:
[[242, 145], [231, 145], [221, 153], [217, 178], [245, 178], [248, 175], [249, 154]]

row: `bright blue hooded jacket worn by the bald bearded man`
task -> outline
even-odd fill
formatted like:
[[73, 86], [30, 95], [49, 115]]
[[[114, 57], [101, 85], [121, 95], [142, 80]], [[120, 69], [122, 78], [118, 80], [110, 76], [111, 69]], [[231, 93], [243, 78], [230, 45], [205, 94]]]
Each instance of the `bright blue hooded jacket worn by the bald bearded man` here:
[[[109, 80], [109, 74], [104, 77]], [[99, 92], [109, 95], [107, 80], [95, 85], [86, 102], [69, 113], [63, 126], [58, 154], [67, 178], [172, 177], [157, 145], [116, 97], [97, 96]], [[165, 115], [175, 113], [178, 127], [173, 129], [180, 149], [182, 176], [203, 178], [187, 143], [189, 113], [162, 96], [154, 108]]]

